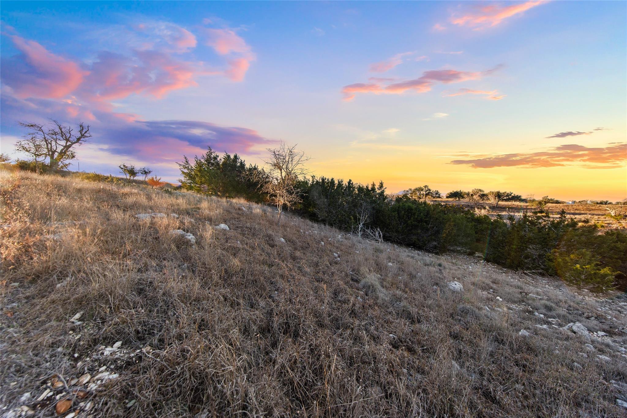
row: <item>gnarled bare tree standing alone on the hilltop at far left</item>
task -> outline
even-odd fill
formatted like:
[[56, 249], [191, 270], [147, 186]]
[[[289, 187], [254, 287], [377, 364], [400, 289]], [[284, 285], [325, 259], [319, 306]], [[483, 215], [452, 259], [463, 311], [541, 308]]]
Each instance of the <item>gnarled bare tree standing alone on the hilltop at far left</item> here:
[[70, 126], [61, 125], [56, 120], [51, 120], [51, 126], [31, 122], [19, 122], [19, 125], [30, 130], [26, 137], [43, 144], [51, 170], [64, 169], [70, 165], [69, 161], [76, 156], [72, 147], [81, 145], [92, 137], [89, 125], [83, 122], [78, 123], [76, 127], [78, 132]]

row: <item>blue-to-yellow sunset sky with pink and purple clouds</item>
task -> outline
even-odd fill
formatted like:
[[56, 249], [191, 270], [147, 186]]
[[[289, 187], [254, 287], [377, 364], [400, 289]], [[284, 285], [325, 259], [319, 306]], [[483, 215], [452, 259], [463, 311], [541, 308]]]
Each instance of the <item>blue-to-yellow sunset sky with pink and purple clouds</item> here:
[[627, 197], [627, 3], [0, 2], [0, 150], [90, 125], [71, 169], [183, 155], [558, 199]]

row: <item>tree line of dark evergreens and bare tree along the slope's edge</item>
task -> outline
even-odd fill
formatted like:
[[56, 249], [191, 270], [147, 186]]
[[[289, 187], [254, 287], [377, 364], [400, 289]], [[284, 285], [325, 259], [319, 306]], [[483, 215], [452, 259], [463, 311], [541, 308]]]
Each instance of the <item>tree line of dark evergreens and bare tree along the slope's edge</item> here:
[[[180, 165], [186, 189], [222, 197], [245, 197], [292, 207], [298, 214], [369, 239], [443, 253], [477, 254], [504, 267], [561, 277], [577, 286], [603, 291], [627, 287], [627, 235], [579, 226], [562, 210], [549, 216], [544, 206], [520, 215], [477, 214], [459, 205], [429, 201], [441, 196], [428, 186], [386, 194], [383, 182], [359, 184], [307, 175], [307, 159], [282, 144], [270, 150], [266, 167], [246, 165], [237, 155], [208, 149]], [[291, 165], [290, 165], [291, 162]], [[272, 175], [270, 175], [271, 173]], [[459, 193], [458, 193], [459, 192]], [[519, 201], [512, 192], [451, 192], [474, 202]]]

